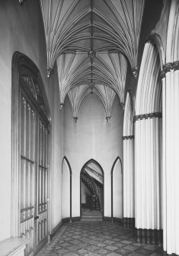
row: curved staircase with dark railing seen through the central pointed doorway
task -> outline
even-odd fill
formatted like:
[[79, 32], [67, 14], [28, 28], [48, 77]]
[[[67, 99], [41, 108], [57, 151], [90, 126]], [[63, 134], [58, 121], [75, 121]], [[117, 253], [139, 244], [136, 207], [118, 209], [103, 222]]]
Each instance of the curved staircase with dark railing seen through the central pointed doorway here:
[[[97, 195], [97, 209], [103, 212], [104, 196], [103, 196], [103, 184], [93, 179], [85, 170], [81, 174], [82, 182], [88, 187], [92, 195]], [[96, 217], [96, 216], [95, 216]]]

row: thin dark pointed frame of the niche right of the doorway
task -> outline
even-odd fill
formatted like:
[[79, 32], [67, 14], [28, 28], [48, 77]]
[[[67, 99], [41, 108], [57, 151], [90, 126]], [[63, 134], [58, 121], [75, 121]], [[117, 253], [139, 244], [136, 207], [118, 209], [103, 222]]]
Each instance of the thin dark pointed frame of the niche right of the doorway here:
[[[111, 174], [111, 220], [112, 220], [112, 222], [113, 222], [113, 218], [114, 218], [114, 216], [113, 216], [113, 172], [114, 172], [114, 169], [115, 169], [118, 161], [120, 162], [120, 168], [121, 168], [120, 170], [121, 170], [121, 174], [123, 175], [123, 164], [122, 164], [122, 160], [120, 159], [119, 156], [116, 158], [116, 160], [114, 160], [113, 166], [112, 166], [111, 172], [110, 172], [110, 174]], [[122, 178], [122, 180], [123, 180], [123, 178]], [[123, 195], [123, 181], [122, 181], [121, 185], [122, 185], [122, 195]], [[122, 215], [123, 215], [123, 196], [122, 196]]]

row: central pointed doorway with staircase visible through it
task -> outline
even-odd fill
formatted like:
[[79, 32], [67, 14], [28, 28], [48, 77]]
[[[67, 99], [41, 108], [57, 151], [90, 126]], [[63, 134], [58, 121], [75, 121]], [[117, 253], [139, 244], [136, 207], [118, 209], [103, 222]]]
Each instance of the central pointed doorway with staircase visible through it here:
[[91, 159], [80, 173], [80, 215], [82, 221], [100, 221], [104, 217], [104, 170]]

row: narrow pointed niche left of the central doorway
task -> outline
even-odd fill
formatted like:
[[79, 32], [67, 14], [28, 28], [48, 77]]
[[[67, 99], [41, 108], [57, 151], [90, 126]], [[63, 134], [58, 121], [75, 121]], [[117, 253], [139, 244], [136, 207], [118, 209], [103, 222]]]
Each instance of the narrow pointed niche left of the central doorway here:
[[69, 160], [62, 160], [62, 219], [72, 222], [72, 169]]

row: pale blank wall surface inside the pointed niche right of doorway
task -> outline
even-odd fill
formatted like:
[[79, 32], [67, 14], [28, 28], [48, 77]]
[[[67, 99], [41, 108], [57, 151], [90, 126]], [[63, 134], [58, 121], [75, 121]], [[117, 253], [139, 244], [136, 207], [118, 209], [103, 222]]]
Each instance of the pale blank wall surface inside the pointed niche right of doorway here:
[[123, 175], [119, 159], [113, 168], [113, 217], [123, 217]]

